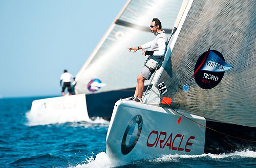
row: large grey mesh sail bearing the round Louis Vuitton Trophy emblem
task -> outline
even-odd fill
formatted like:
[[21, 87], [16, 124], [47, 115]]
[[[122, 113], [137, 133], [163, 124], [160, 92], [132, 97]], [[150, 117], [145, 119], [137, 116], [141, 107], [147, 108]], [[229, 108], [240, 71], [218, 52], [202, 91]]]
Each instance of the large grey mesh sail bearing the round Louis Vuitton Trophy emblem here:
[[[256, 2], [189, 4], [154, 91], [171, 98], [174, 109], [256, 127]], [[166, 106], [155, 93], [150, 97], [147, 104]]]

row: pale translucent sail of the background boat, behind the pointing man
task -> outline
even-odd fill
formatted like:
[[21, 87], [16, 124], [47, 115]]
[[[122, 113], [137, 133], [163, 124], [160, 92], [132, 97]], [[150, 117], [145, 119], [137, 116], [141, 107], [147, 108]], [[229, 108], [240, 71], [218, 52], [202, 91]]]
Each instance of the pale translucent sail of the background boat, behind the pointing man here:
[[127, 1], [77, 74], [75, 92], [90, 94], [135, 87], [145, 57], [141, 52], [129, 53], [127, 47], [154, 39], [148, 27], [154, 17], [161, 20], [163, 30], [169, 34], [181, 4], [180, 0]]

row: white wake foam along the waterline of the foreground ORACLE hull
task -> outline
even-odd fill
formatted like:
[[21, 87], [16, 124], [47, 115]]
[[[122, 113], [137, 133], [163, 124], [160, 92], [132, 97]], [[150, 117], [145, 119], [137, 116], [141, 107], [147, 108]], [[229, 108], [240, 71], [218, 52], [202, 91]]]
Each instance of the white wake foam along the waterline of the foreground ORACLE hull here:
[[[182, 158], [211, 158], [211, 159], [219, 159], [219, 158], [229, 158], [229, 157], [242, 157], [242, 158], [256, 158], [256, 152], [253, 151], [242, 151], [242, 152], [234, 152], [228, 154], [202, 154], [202, 155], [165, 155], [161, 158], [156, 158], [152, 160], [148, 160], [148, 162], [180, 162]], [[145, 161], [145, 160], [144, 160]], [[146, 161], [147, 162], [147, 161]], [[136, 163], [136, 162], [134, 162]], [[142, 164], [141, 161], [138, 161], [139, 164]], [[91, 157], [86, 159], [84, 163], [78, 164], [75, 168], [98, 168], [98, 167], [116, 167], [124, 165], [123, 162], [117, 162], [109, 158], [105, 152], [98, 153], [95, 158]], [[73, 167], [74, 168], [74, 167]]]

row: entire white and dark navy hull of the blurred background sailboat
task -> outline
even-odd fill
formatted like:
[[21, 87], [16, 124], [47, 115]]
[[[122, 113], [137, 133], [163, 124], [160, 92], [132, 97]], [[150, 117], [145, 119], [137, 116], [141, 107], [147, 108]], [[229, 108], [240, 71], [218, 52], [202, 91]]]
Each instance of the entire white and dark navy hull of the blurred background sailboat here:
[[[113, 90], [94, 94], [75, 94], [35, 100], [32, 102], [29, 116], [40, 120], [44, 115], [49, 124], [88, 121], [89, 117], [102, 117], [110, 121], [114, 104], [123, 97], [131, 97], [135, 88]], [[67, 119], [69, 118], [69, 119]], [[36, 119], [38, 121], [38, 119]], [[44, 123], [43, 121], [39, 121]]]

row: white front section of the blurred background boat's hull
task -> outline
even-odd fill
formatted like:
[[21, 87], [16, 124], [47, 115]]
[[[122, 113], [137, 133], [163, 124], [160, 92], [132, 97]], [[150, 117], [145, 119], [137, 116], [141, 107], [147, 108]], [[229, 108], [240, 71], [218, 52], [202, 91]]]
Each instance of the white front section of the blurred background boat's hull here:
[[86, 95], [76, 94], [34, 100], [27, 117], [30, 122], [36, 124], [89, 121]]

